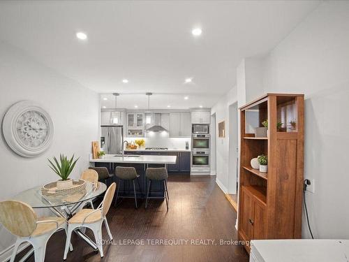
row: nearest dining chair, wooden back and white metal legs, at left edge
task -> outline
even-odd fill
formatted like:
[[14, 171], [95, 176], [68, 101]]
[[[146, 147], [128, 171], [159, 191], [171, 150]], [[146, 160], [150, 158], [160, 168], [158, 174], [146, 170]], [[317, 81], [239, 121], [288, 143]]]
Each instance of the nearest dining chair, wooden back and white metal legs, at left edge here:
[[[23, 242], [31, 243], [35, 261], [43, 262], [46, 244], [51, 235], [61, 229], [67, 233], [66, 219], [63, 217], [38, 218], [30, 205], [20, 201], [0, 202], [0, 221], [10, 233], [17, 236], [10, 262], [15, 261], [17, 249]], [[68, 247], [69, 245], [70, 241]]]

